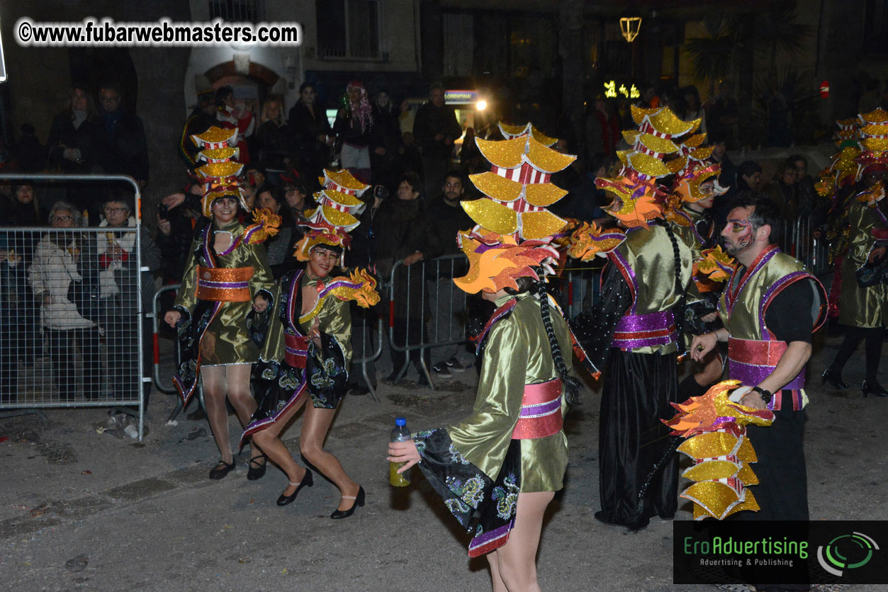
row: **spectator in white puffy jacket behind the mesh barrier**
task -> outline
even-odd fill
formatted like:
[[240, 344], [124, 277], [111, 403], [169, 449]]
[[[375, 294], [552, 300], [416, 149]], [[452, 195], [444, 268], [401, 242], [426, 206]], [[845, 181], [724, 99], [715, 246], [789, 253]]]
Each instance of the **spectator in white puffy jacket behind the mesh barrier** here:
[[99, 399], [98, 282], [95, 248], [87, 235], [63, 230], [80, 225], [77, 209], [64, 201], [52, 206], [52, 231], [37, 243], [29, 280], [43, 304], [41, 321], [49, 343], [59, 399], [75, 399], [75, 351], [83, 358], [83, 399]]

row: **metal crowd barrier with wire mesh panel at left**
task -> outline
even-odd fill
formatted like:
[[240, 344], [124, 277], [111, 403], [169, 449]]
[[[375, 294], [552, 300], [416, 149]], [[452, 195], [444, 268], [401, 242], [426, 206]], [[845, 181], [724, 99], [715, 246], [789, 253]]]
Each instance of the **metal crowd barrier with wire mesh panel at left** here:
[[[122, 175], [0, 175], [0, 182], [17, 180], [127, 183], [136, 225], [0, 228], [0, 412], [138, 407], [141, 440], [147, 268], [139, 185]], [[43, 190], [38, 185], [37, 198]], [[115, 245], [127, 251], [125, 261], [112, 254]]]

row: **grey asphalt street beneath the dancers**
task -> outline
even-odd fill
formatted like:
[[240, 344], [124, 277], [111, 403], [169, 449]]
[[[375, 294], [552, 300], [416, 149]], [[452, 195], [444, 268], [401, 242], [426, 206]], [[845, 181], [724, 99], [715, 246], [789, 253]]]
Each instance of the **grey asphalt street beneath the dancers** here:
[[[811, 405], [805, 454], [812, 519], [888, 519], [885, 431], [888, 399], [855, 387], [822, 387], [820, 373], [840, 337], [821, 336], [808, 367]], [[862, 351], [844, 377], [863, 378]], [[469, 359], [468, 354], [466, 360]], [[884, 366], [884, 364], [883, 364]], [[380, 375], [385, 375], [381, 362]], [[883, 368], [885, 370], [885, 368]], [[883, 372], [888, 383], [888, 372]], [[280, 470], [246, 479], [248, 453], [220, 481], [206, 422], [166, 417], [175, 398], [152, 394], [143, 442], [122, 429], [99, 433], [107, 409], [45, 410], [0, 420], [0, 588], [31, 590], [312, 590], [407, 592], [488, 590], [487, 562], [466, 555], [468, 536], [418, 472], [408, 488], [388, 485], [385, 446], [395, 415], [420, 430], [472, 407], [473, 370], [437, 391], [408, 378], [380, 383], [381, 401], [346, 397], [327, 440], [367, 491], [367, 505], [330, 520], [336, 488], [316, 479], [293, 504], [275, 499]], [[657, 591], [673, 586], [672, 524], [654, 518], [638, 533], [599, 524], [599, 391], [591, 385], [567, 421], [570, 464], [547, 514], [539, 552], [543, 590]], [[285, 433], [297, 453], [300, 419]], [[234, 417], [233, 441], [240, 435]], [[677, 520], [691, 519], [689, 503]], [[888, 587], [847, 587], [847, 590]]]

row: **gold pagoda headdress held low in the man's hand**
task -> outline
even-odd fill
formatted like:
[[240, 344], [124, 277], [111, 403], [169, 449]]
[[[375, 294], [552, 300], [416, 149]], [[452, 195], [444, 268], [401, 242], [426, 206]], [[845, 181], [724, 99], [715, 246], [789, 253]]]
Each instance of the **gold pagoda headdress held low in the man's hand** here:
[[757, 459], [746, 426], [769, 426], [774, 415], [767, 409], [733, 403], [730, 392], [740, 385], [737, 380], [722, 381], [702, 397], [673, 403], [678, 414], [668, 422], [662, 420], [673, 430], [673, 436], [686, 438], [678, 452], [694, 462], [682, 473], [694, 485], [681, 493], [681, 497], [694, 502], [694, 520], [722, 520], [742, 509], [759, 509], [748, 489], [758, 484], [758, 478], [749, 467]]

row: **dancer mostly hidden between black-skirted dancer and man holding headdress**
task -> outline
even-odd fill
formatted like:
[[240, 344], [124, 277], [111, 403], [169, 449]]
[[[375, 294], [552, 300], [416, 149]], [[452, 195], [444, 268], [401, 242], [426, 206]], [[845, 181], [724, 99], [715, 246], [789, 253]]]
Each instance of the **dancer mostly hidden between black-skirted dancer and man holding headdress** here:
[[[692, 135], [691, 138], [697, 136]], [[694, 141], [691, 140], [691, 143], [694, 144]], [[716, 229], [709, 210], [716, 197], [724, 194], [727, 188], [718, 185], [720, 165], [702, 162], [712, 152], [711, 146], [694, 149], [693, 146], [682, 144], [679, 150], [686, 151], [687, 154], [683, 154], [680, 160], [673, 161], [684, 166], [676, 173], [672, 193], [667, 201], [666, 219], [678, 238], [691, 249], [696, 264], [702, 258], [704, 250], [716, 246]], [[676, 166], [673, 162], [668, 164], [670, 169]], [[688, 285], [686, 296], [688, 339], [721, 324], [716, 312], [720, 291], [721, 285], [718, 282], [694, 273], [694, 281]], [[694, 374], [678, 383], [678, 399], [686, 400], [702, 395], [713, 383], [718, 382], [721, 375], [721, 356], [718, 351], [713, 351]]]

